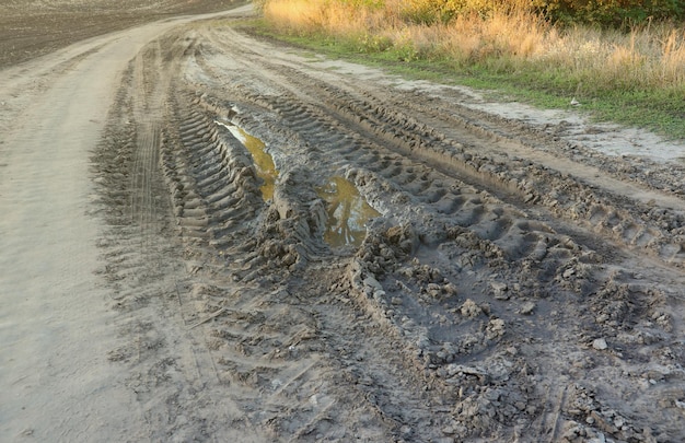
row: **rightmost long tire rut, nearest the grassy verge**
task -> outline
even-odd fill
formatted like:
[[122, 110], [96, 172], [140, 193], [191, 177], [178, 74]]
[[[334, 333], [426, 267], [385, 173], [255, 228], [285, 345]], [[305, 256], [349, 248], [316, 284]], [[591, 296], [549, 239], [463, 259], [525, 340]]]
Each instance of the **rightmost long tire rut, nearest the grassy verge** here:
[[[289, 75], [289, 78], [302, 79], [302, 75], [293, 74]], [[306, 79], [301, 84], [301, 88], [304, 88], [304, 84], [309, 84], [309, 91], [312, 91], [312, 79]], [[612, 183], [609, 186], [606, 183], [609, 179], [603, 178], [604, 188], [611, 193], [639, 196], [641, 198], [639, 201], [629, 201], [627, 205], [624, 205], [620, 199], [614, 196], [601, 194], [592, 189], [592, 182], [594, 182], [592, 177], [599, 175], [597, 170], [591, 168], [588, 173], [581, 170], [580, 172], [583, 174], [580, 174], [579, 171], [573, 171], [571, 162], [565, 163], [566, 166], [561, 165], [561, 171], [573, 171], [573, 174], [579, 176], [580, 180], [574, 177], [573, 179], [565, 178], [557, 171], [549, 171], [539, 166], [535, 166], [530, 173], [516, 177], [509, 173], [511, 166], [508, 158], [512, 154], [525, 155], [542, 163], [545, 161], [547, 163], [552, 162], [544, 153], [532, 155], [534, 151], [531, 148], [474, 126], [463, 119], [451, 118], [450, 123], [452, 125], [449, 125], [449, 128], [458, 128], [461, 126], [466, 130], [466, 133], [462, 131], [455, 133], [453, 129], [443, 133], [427, 127], [426, 124], [417, 121], [405, 113], [387, 110], [414, 108], [416, 109], [415, 115], [430, 116], [431, 113], [425, 112], [426, 107], [422, 106], [419, 107], [410, 105], [408, 102], [400, 102], [399, 104], [394, 104], [394, 106], [383, 107], [379, 104], [382, 103], [380, 98], [373, 100], [373, 103], [368, 101], [368, 98], [357, 101], [350, 94], [336, 90], [330, 85], [326, 85], [322, 90], [325, 95], [322, 94], [321, 103], [326, 103], [329, 106], [337, 103], [337, 105], [333, 106], [341, 113], [346, 126], [350, 127], [358, 124], [363, 129], [379, 135], [393, 143], [393, 145], [398, 147], [398, 152], [404, 155], [422, 161], [448, 175], [456, 173], [461, 179], [465, 179], [479, 188], [488, 189], [504, 200], [511, 200], [514, 197], [511, 201], [518, 206], [521, 206], [523, 200], [527, 203], [543, 206], [546, 210], [550, 209], [552, 215], [555, 218], [560, 218], [561, 220], [570, 219], [574, 222], [584, 221], [593, 231], [602, 232], [611, 238], [620, 241], [626, 246], [635, 244], [649, 246], [665, 263], [680, 266], [683, 263], [683, 258], [685, 258], [682, 257], [681, 253], [683, 237], [678, 233], [678, 226], [682, 225], [683, 221], [683, 208], [685, 208], [682, 199], [666, 197], [657, 193], [639, 193], [638, 189], [627, 185], [625, 182], [620, 184]], [[417, 100], [414, 103], [420, 102], [420, 100]], [[388, 130], [386, 128], [392, 129]], [[488, 152], [492, 151], [487, 148], [491, 141], [498, 142], [497, 144], [501, 147], [501, 151], [508, 152], [507, 158], [500, 155], [500, 159], [497, 159], [488, 154]], [[477, 156], [468, 153], [475, 151], [479, 152]], [[559, 160], [557, 160], [558, 162]], [[526, 182], [530, 182], [530, 184], [526, 184]], [[590, 182], [590, 184], [584, 185], [583, 182]], [[560, 195], [553, 187], [554, 189], [564, 189], [565, 194]], [[546, 197], [545, 194], [549, 194], [553, 197]], [[617, 197], [620, 198], [620, 196]], [[642, 225], [645, 222], [641, 218], [638, 218], [639, 215], [630, 213], [629, 210], [634, 210], [637, 206], [641, 211], [648, 211], [647, 203], [655, 200], [676, 208], [676, 211], [671, 210], [664, 213], [670, 219], [669, 228], [665, 231], [657, 226], [647, 228], [641, 230], [639, 236], [636, 237], [634, 230], [630, 228]], [[587, 208], [589, 202], [592, 202], [590, 209], [583, 212], [583, 208]], [[539, 211], [537, 212], [539, 213]], [[600, 215], [602, 212], [604, 213]], [[639, 212], [638, 214], [642, 213]], [[544, 212], [541, 215], [550, 218], [549, 215], [544, 215]], [[660, 218], [660, 222], [661, 220], [663, 219]]]

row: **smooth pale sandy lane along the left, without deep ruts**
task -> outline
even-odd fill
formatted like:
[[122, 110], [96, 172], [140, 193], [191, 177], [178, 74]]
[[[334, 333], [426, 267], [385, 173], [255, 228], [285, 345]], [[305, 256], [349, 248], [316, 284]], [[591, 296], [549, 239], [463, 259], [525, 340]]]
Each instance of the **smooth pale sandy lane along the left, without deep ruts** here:
[[185, 20], [107, 35], [0, 74], [0, 440], [137, 441], [152, 433], [96, 276], [90, 155], [121, 72]]

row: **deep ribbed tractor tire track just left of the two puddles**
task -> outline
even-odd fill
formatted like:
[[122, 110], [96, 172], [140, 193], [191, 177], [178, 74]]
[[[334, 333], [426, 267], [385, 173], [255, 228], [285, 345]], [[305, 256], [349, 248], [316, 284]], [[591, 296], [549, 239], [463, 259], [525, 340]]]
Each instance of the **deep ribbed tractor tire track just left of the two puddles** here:
[[[183, 305], [197, 306], [184, 318], [206, 331], [229, 397], [249, 425], [266, 430], [272, 440], [317, 441], [328, 435], [345, 441], [351, 433], [385, 440], [387, 424], [360, 403], [362, 393], [330, 392], [340, 368], [324, 357], [320, 314], [288, 288], [268, 289], [300, 269], [299, 263], [321, 254], [321, 240], [310, 238], [312, 226], [318, 229], [309, 217], [310, 206], [303, 209], [299, 196], [283, 191], [267, 208], [245, 148], [207, 115], [198, 97], [181, 93], [174, 100], [162, 170], [182, 237], [189, 241], [189, 256], [195, 258], [195, 279], [202, 281], [181, 290]], [[323, 213], [323, 207], [318, 211]], [[245, 256], [245, 250], [252, 252]], [[231, 295], [224, 288], [235, 283], [221, 283], [225, 270], [209, 264], [217, 260], [239, 281]], [[202, 323], [214, 313], [220, 315]], [[326, 380], [332, 382], [322, 383]], [[255, 405], [260, 405], [257, 410]], [[360, 415], [369, 417], [360, 420]], [[360, 424], [349, 430], [345, 422]]]

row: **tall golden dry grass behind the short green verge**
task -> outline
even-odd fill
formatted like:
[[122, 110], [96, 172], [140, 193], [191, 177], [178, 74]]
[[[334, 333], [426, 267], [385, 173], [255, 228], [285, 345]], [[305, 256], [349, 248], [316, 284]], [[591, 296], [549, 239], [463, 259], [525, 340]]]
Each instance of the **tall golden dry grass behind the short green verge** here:
[[685, 30], [557, 27], [525, 0], [266, 0], [280, 32], [325, 35], [400, 60], [440, 59], [558, 78], [583, 91], [661, 89], [685, 96]]

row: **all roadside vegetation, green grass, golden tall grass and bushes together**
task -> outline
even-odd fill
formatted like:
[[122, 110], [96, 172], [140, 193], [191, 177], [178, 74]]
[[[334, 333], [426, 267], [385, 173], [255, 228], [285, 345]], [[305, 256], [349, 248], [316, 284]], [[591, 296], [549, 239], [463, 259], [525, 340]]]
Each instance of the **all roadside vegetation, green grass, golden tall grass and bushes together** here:
[[677, 0], [265, 0], [260, 32], [685, 138]]

